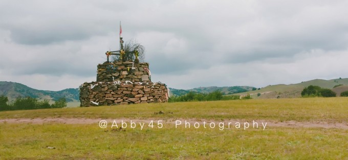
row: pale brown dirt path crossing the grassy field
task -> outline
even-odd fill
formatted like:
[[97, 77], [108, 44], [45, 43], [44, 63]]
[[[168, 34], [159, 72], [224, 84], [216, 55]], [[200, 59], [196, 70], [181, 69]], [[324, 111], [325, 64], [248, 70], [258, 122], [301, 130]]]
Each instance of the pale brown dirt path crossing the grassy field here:
[[[107, 122], [113, 122], [116, 121], [117, 123], [123, 122], [145, 122], [149, 123], [150, 121], [157, 122], [158, 119], [83, 119], [83, 118], [34, 118], [34, 119], [3, 119], [0, 120], [0, 123], [31, 123], [31, 124], [47, 124], [47, 123], [62, 123], [62, 124], [98, 124], [99, 121], [106, 120]], [[185, 124], [185, 119], [178, 119], [182, 122], [182, 124]], [[163, 120], [162, 123], [171, 123], [175, 124], [176, 120]], [[224, 121], [211, 121], [211, 120], [194, 120], [194, 119], [188, 119], [187, 122], [191, 123], [193, 125], [195, 122], [198, 122], [200, 124], [202, 123], [211, 123], [214, 122], [216, 125], [224, 122], [225, 125], [228, 123], [231, 123], [234, 125], [235, 123], [241, 123], [243, 126], [245, 122], [248, 122], [250, 125], [253, 124], [253, 122], [250, 121], [244, 121], [244, 120], [224, 120]], [[306, 127], [306, 128], [339, 128], [339, 129], [348, 129], [348, 123], [328, 123], [328, 122], [296, 122], [296, 121], [287, 121], [287, 122], [276, 122], [276, 121], [270, 121], [270, 120], [255, 120], [256, 123], [258, 123], [259, 126], [262, 126], [263, 124], [267, 123], [267, 127]]]

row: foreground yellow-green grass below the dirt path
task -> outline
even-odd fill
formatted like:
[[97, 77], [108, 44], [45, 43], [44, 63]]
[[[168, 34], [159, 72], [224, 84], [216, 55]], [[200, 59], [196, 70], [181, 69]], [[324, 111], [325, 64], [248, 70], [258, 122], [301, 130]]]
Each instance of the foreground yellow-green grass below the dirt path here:
[[[344, 159], [347, 130], [0, 124], [2, 159]], [[55, 149], [48, 149], [55, 147]]]

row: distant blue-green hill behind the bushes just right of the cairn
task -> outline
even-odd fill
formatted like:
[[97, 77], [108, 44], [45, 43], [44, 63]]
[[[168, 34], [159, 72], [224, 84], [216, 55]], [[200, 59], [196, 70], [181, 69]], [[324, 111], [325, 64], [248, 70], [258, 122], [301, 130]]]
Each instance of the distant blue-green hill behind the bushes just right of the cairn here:
[[225, 86], [225, 87], [210, 86], [210, 87], [198, 87], [193, 89], [175, 89], [175, 88], [169, 88], [169, 89], [170, 89], [171, 95], [181, 96], [189, 92], [208, 94], [216, 90], [219, 90], [224, 95], [230, 95], [235, 93], [247, 92], [249, 90], [252, 90], [253, 88], [256, 89], [255, 87], [251, 87], [251, 86], [230, 86], [230, 87], [229, 86]]

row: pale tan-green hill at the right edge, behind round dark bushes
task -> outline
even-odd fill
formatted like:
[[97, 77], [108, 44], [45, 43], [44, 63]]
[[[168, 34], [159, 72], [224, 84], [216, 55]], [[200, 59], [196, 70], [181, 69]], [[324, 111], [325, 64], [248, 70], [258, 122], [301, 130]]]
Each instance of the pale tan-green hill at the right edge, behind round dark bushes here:
[[[244, 93], [239, 93], [238, 95], [247, 95], [250, 94], [252, 98], [254, 99], [264, 99], [264, 98], [298, 98], [301, 97], [301, 92], [303, 88], [309, 86], [309, 85], [317, 85], [322, 88], [329, 88], [333, 89], [336, 85], [348, 85], [348, 78], [338, 78], [338, 79], [332, 79], [332, 80], [323, 80], [323, 79], [314, 79], [310, 81], [305, 81], [301, 83], [296, 84], [277, 84], [277, 85], [269, 85], [263, 88], [260, 88], [260, 90], [252, 90]], [[339, 92], [335, 91], [336, 93], [342, 92], [342, 88], [339, 87]], [[337, 90], [337, 89], [336, 89]], [[258, 96], [259, 95], [259, 96]]]

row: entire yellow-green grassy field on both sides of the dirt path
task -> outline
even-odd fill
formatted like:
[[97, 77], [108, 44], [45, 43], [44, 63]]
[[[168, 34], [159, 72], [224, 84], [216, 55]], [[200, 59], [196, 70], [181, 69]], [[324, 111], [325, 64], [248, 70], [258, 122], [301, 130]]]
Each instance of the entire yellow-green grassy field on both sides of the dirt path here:
[[[1, 123], [0, 159], [347, 159], [348, 129], [320, 127], [176, 128], [148, 120], [296, 121], [348, 124], [348, 98], [158, 103], [0, 112], [0, 120], [137, 119], [140, 127]], [[159, 114], [159, 112], [164, 114]], [[118, 124], [120, 127], [120, 124]], [[50, 149], [54, 147], [55, 149]]]

